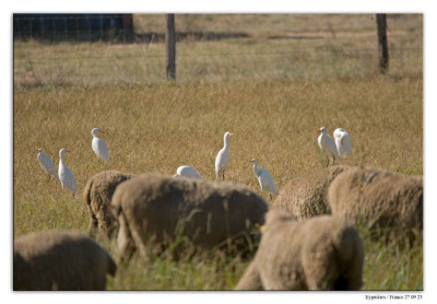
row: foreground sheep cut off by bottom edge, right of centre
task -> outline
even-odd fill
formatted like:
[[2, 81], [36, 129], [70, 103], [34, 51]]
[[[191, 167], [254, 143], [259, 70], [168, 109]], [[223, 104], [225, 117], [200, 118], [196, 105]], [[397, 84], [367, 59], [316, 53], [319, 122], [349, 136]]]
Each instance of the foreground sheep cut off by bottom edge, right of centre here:
[[359, 290], [364, 247], [342, 218], [296, 220], [269, 210], [255, 258], [235, 290]]

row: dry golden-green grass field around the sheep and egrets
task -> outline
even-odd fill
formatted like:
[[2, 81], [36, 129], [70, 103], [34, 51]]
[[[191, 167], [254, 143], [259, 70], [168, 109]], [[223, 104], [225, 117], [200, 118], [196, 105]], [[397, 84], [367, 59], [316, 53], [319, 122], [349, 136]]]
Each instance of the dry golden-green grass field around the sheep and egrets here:
[[[235, 135], [226, 178], [259, 194], [249, 163], [253, 157], [279, 189], [323, 167], [317, 147], [321, 126], [331, 136], [338, 127], [351, 133], [354, 155], [345, 164], [422, 175], [422, 16], [389, 17], [393, 52], [387, 75], [378, 74], [376, 36], [368, 36], [376, 31], [375, 20], [369, 16], [300, 15], [293, 21], [300, 26], [293, 33], [330, 34], [299, 39], [286, 37], [284, 28], [291, 24], [284, 16], [265, 15], [260, 26], [272, 26], [258, 34], [247, 19], [238, 27], [238, 19], [226, 23], [223, 15], [187, 16], [192, 20], [185, 23], [179, 16], [176, 22], [185, 31], [210, 23], [251, 31], [246, 38], [178, 44], [176, 82], [165, 80], [163, 43], [15, 42], [14, 236], [51, 229], [85, 232], [82, 191], [101, 171], [173, 175], [177, 166], [189, 164], [215, 179], [214, 159], [225, 131]], [[153, 31], [147, 26], [157, 25], [141, 26]], [[212, 31], [225, 32], [226, 26]], [[110, 164], [98, 162], [91, 149], [94, 127], [105, 131]], [[75, 175], [78, 198], [62, 191], [59, 182], [47, 180], [37, 148], [56, 164], [61, 148], [71, 150], [66, 163]], [[404, 248], [364, 242], [364, 290], [423, 290], [422, 244]], [[104, 246], [115, 256], [114, 242]], [[229, 290], [246, 266], [238, 259], [176, 264], [134, 258], [120, 265], [108, 289]]]

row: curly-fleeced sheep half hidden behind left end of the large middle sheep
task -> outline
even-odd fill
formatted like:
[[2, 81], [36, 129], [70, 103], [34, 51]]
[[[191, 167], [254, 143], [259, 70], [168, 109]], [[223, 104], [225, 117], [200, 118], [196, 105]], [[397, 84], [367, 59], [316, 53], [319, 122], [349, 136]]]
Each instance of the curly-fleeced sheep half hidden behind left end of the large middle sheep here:
[[83, 199], [90, 213], [90, 233], [98, 226], [102, 235], [113, 234], [116, 223], [110, 212], [110, 199], [117, 186], [133, 176], [133, 174], [119, 171], [104, 171], [88, 179], [83, 191]]

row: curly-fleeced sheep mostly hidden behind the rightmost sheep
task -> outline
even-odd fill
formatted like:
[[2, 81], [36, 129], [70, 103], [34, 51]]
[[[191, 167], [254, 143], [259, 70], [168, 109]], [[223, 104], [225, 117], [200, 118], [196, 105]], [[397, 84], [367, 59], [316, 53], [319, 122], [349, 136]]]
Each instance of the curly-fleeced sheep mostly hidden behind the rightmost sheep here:
[[284, 210], [297, 219], [329, 214], [326, 202], [328, 187], [332, 180], [350, 166], [331, 166], [288, 182], [272, 202], [272, 207]]

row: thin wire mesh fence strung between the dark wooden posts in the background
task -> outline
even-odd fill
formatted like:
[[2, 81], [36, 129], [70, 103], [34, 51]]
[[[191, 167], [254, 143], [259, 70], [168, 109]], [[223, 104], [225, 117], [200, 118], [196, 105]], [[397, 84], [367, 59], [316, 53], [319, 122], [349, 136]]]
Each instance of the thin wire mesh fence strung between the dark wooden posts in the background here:
[[[310, 81], [377, 73], [376, 30], [344, 37], [303, 33], [255, 38], [241, 28], [179, 32], [177, 82]], [[14, 15], [13, 31], [17, 87], [167, 81], [164, 34], [135, 33], [128, 14]], [[414, 35], [389, 37], [391, 75], [422, 77], [422, 37]]]

